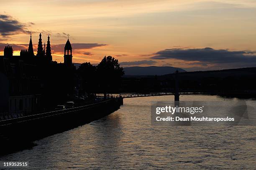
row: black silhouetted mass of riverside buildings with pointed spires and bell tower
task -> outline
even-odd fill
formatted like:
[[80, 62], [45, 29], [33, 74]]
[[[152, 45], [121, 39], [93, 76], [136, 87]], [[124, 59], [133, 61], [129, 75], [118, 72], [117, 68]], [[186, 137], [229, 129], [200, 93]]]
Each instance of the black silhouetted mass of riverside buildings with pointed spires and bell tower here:
[[4, 55], [0, 56], [0, 119], [44, 112], [71, 100], [75, 67], [69, 39], [66, 50], [64, 63], [52, 61], [50, 37], [43, 50], [41, 33], [36, 56], [31, 36], [28, 50], [21, 50], [20, 56], [13, 56], [11, 46], [4, 48]]

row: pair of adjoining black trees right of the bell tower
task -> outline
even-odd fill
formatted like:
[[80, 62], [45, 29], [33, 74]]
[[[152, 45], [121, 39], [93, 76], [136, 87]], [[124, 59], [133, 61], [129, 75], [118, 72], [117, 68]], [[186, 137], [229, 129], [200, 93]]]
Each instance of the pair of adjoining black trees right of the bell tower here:
[[77, 69], [80, 90], [82, 93], [112, 93], [120, 87], [121, 76], [124, 75], [118, 59], [104, 57], [98, 65], [90, 62], [82, 63]]

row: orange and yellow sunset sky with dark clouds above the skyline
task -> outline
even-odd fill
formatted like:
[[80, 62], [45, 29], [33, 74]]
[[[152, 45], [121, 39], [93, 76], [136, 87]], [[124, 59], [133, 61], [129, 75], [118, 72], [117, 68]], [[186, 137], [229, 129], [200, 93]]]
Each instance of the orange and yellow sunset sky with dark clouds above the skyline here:
[[73, 62], [185, 70], [256, 67], [256, 0], [12, 0], [0, 5], [0, 55], [27, 49], [32, 32], [50, 35], [63, 62], [67, 34]]

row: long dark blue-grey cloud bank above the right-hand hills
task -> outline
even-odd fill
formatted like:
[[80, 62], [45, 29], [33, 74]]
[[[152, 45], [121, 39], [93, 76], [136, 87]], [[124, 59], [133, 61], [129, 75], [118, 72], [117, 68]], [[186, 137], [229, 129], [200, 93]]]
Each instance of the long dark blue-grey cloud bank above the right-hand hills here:
[[[210, 47], [189, 48], [189, 49], [166, 49], [156, 52], [151, 59], [154, 60], [178, 60], [182, 65], [197, 67], [211, 67], [211, 70], [237, 68], [237, 67], [255, 67], [256, 52], [241, 50], [216, 50]], [[204, 69], [205, 70], [205, 69]]]

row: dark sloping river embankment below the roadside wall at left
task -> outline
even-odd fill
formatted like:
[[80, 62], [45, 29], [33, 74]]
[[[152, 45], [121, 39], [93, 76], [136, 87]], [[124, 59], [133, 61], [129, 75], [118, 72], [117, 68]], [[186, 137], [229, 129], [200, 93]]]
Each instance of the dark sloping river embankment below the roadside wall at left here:
[[[0, 157], [20, 150], [33, 148], [35, 140], [61, 133], [81, 125], [98, 120], [120, 108], [120, 99], [110, 99], [92, 105], [75, 107], [65, 112], [32, 117], [24, 120], [20, 117], [15, 122], [0, 121]], [[23, 119], [23, 120], [22, 120]]]

